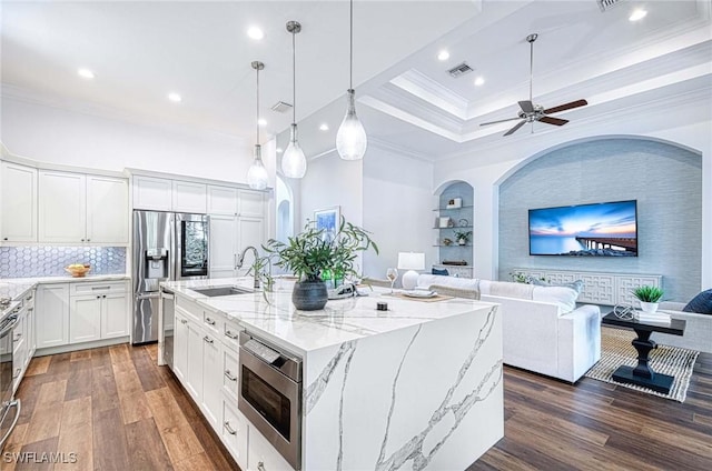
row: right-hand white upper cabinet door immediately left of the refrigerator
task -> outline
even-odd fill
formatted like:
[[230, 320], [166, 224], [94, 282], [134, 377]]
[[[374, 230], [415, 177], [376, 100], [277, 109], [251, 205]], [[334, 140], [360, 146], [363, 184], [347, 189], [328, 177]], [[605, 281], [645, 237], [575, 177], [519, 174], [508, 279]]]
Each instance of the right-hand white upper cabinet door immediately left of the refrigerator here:
[[128, 182], [87, 176], [87, 241], [129, 243]]

